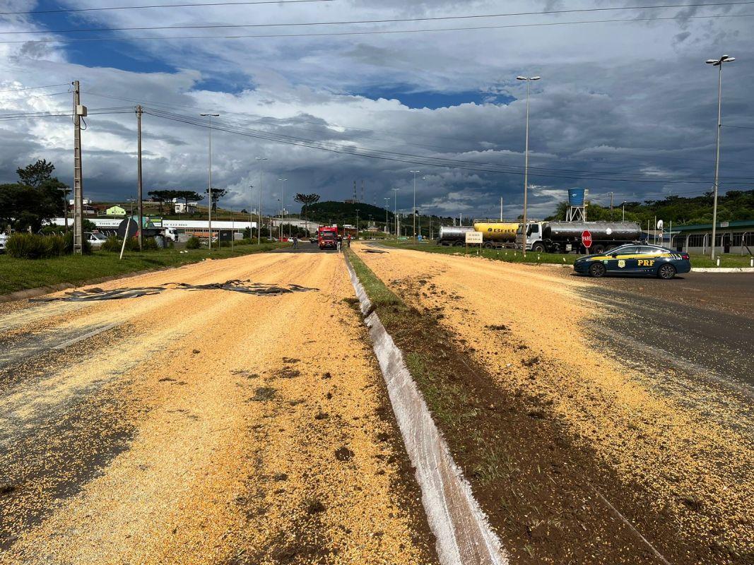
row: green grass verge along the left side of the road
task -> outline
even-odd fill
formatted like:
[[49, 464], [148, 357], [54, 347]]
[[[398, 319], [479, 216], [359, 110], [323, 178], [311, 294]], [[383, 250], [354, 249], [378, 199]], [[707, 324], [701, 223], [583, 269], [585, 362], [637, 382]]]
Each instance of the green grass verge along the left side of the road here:
[[192, 249], [180, 253], [178, 249], [160, 249], [158, 251], [126, 252], [123, 260], [118, 260], [118, 253], [96, 251], [92, 255], [65, 255], [49, 259], [14, 259], [0, 255], [0, 294], [39, 286], [51, 286], [60, 282], [80, 284], [105, 276], [133, 273], [138, 270], [159, 269], [161, 267], [179, 267], [196, 263], [205, 258], [225, 259], [250, 253], [259, 253], [285, 247], [288, 243], [262, 243], [261, 246], [235, 246], [231, 251], [222, 249]]

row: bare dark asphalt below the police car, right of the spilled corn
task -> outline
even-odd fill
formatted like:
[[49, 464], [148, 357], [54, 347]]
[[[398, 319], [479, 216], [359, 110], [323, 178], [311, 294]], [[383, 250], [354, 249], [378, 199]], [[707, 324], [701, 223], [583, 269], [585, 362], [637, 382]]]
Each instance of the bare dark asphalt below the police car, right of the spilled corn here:
[[754, 399], [754, 273], [587, 280], [581, 295], [608, 310], [592, 326], [596, 343], [612, 356]]

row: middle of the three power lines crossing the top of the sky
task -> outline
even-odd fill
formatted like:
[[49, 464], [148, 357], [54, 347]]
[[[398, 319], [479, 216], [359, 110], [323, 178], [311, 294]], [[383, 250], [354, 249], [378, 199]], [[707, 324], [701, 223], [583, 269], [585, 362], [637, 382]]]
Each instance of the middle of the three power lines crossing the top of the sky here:
[[573, 10], [550, 10], [541, 12], [511, 12], [504, 14], [466, 14], [461, 16], [435, 16], [435, 17], [409, 17], [393, 18], [385, 20], [340, 20], [331, 22], [291, 22], [291, 23], [231, 23], [231, 24], [198, 24], [185, 26], [134, 26], [134, 27], [103, 27], [88, 29], [46, 29], [34, 30], [30, 32], [0, 32], [2, 35], [16, 34], [39, 34], [39, 33], [85, 33], [85, 32], [128, 32], [128, 31], [148, 31], [155, 29], [223, 29], [223, 28], [268, 28], [268, 27], [289, 27], [289, 26], [345, 26], [351, 24], [363, 23], [409, 23], [409, 22], [430, 22], [441, 20], [473, 20], [480, 18], [498, 18], [498, 17], [517, 17], [517, 16], [538, 16], [547, 14], [575, 14], [582, 12], [602, 12], [602, 11], [628, 11], [628, 10], [647, 10], [647, 9], [667, 9], [667, 8], [690, 8], [703, 6], [730, 6], [730, 5], [752, 5], [754, 1], [746, 2], [714, 2], [708, 4], [673, 4], [673, 5], [652, 5], [652, 6], [621, 6], [618, 8], [581, 8]]

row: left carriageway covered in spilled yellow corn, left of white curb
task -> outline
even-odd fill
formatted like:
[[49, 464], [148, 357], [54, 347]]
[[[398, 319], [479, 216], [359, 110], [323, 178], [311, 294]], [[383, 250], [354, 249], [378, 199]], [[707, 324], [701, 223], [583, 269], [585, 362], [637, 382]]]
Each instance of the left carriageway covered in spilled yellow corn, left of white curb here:
[[342, 256], [101, 288], [229, 279], [0, 306], [0, 563], [436, 562]]

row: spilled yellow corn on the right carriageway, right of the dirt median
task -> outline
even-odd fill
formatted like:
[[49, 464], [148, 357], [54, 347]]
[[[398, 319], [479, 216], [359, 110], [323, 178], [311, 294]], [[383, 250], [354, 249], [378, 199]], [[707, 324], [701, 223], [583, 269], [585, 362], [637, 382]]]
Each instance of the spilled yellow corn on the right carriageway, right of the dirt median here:
[[[667, 515], [679, 536], [700, 546], [698, 554], [679, 562], [699, 562], [699, 554], [709, 563], [749, 562], [754, 555], [749, 399], [733, 398], [722, 388], [706, 406], [710, 390], [701, 384], [676, 395], [681, 391], [661, 386], [667, 373], [593, 347], [589, 328], [595, 318], [621, 314], [585, 300], [583, 289], [590, 283], [560, 268], [356, 250], [404, 300], [458, 336], [499, 386], [550, 405], [575, 441], [618, 473], [627, 492], [649, 493], [653, 511]], [[731, 406], [734, 418], [706, 414]], [[733, 419], [736, 426], [721, 423]], [[660, 548], [673, 545], [673, 539], [643, 533]]]

